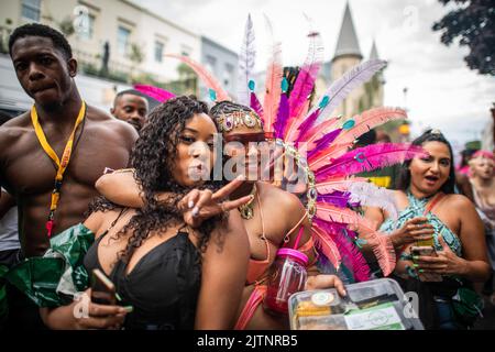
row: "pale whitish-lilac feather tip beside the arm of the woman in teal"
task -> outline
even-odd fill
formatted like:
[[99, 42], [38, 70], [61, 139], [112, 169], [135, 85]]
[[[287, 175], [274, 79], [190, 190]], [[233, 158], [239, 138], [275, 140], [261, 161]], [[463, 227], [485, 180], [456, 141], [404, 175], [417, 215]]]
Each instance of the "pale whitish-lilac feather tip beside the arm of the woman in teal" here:
[[389, 217], [397, 220], [398, 210], [394, 191], [378, 187], [372, 183], [352, 183], [348, 191], [351, 202], [359, 202], [365, 207], [377, 207], [388, 212]]

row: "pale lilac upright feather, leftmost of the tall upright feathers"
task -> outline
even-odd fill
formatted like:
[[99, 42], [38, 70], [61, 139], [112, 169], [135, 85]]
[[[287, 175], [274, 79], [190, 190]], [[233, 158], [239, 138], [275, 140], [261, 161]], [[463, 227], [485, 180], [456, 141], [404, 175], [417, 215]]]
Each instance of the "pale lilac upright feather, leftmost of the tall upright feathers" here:
[[244, 40], [239, 55], [238, 102], [243, 106], [250, 105], [249, 82], [252, 79], [256, 59], [254, 40], [253, 21], [251, 20], [251, 14], [249, 14], [245, 23]]

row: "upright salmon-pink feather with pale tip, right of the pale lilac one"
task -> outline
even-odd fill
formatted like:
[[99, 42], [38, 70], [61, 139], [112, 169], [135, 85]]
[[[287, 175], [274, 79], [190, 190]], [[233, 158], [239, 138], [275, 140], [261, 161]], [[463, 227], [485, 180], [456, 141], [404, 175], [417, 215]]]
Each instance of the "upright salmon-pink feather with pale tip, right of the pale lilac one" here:
[[268, 32], [272, 36], [271, 57], [268, 59], [268, 66], [266, 67], [265, 79], [265, 97], [263, 100], [263, 122], [265, 124], [265, 131], [273, 131], [273, 123], [277, 117], [278, 107], [280, 105], [282, 95], [282, 77], [284, 68], [282, 65], [282, 45], [280, 42], [275, 42], [273, 35], [273, 29], [270, 20], [265, 16], [268, 26]]

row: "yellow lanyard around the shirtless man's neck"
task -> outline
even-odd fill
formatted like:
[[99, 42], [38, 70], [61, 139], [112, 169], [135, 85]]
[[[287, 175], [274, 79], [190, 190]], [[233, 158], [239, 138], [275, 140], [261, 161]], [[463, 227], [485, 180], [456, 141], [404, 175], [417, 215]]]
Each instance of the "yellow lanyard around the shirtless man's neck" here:
[[43, 147], [43, 151], [54, 161], [54, 163], [57, 165], [57, 174], [55, 176], [55, 186], [52, 191], [52, 202], [50, 205], [50, 215], [48, 215], [48, 221], [46, 222], [46, 230], [48, 231], [48, 238], [52, 237], [52, 231], [54, 227], [54, 215], [57, 210], [58, 200], [61, 199], [61, 188], [62, 188], [62, 182], [64, 179], [64, 173], [68, 166], [68, 163], [70, 161], [70, 154], [73, 153], [73, 145], [74, 145], [74, 138], [76, 135], [76, 130], [79, 127], [79, 124], [82, 122], [86, 116], [86, 103], [82, 101], [79, 110], [79, 114], [77, 116], [76, 123], [74, 124], [73, 132], [70, 133], [70, 136], [67, 141], [67, 144], [65, 145], [64, 153], [62, 154], [62, 162], [58, 160], [57, 154], [53, 150], [53, 147], [50, 145], [48, 141], [46, 140], [45, 133], [43, 132], [43, 129], [40, 124], [40, 121], [37, 119], [37, 112], [35, 106], [31, 109], [31, 122], [34, 127], [34, 132], [36, 133], [37, 141], [40, 142], [41, 146]]

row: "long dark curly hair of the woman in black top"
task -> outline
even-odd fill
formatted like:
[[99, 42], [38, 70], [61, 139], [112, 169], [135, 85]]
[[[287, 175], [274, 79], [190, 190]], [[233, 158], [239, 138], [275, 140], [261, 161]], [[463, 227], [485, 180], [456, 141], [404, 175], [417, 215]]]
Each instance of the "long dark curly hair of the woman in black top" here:
[[[205, 102], [194, 96], [176, 97], [156, 107], [141, 130], [131, 154], [131, 165], [135, 169], [134, 178], [145, 202], [144, 207], [138, 209], [132, 219], [116, 234], [119, 238], [128, 231], [132, 232], [125, 250], [119, 254], [122, 260], [129, 261], [153, 231], [164, 232], [167, 228], [183, 222], [183, 213], [178, 210], [177, 204], [193, 187], [177, 184], [172, 173], [177, 158], [180, 133], [197, 113], [208, 113]], [[201, 187], [216, 190], [221, 185], [222, 183], [206, 182]], [[174, 196], [158, 202], [156, 195], [163, 191]], [[91, 211], [107, 211], [112, 208], [103, 198], [91, 205]], [[197, 229], [198, 249], [201, 252], [206, 250], [211, 232], [221, 220], [220, 216], [210, 218]]]

